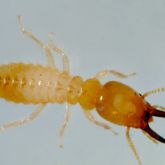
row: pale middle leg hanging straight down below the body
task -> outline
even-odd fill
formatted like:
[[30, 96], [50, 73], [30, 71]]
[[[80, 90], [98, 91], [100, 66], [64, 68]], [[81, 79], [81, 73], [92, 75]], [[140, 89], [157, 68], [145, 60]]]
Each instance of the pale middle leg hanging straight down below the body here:
[[66, 104], [66, 112], [65, 112], [65, 116], [64, 116], [64, 121], [63, 121], [63, 124], [60, 128], [60, 131], [59, 131], [59, 135], [60, 135], [60, 144], [59, 146], [61, 148], [63, 148], [63, 137], [64, 137], [64, 131], [65, 131], [65, 128], [67, 127], [68, 125], [68, 122], [71, 118], [71, 110], [70, 110], [70, 104]]

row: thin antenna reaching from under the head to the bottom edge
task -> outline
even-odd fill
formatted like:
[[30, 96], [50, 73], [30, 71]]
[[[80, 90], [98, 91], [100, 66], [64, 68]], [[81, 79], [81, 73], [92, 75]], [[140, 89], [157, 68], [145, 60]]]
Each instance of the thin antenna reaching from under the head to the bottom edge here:
[[133, 144], [133, 141], [132, 141], [132, 139], [131, 139], [131, 137], [130, 137], [130, 127], [127, 127], [127, 130], [126, 130], [126, 137], [127, 137], [128, 144], [129, 144], [129, 146], [131, 147], [131, 150], [133, 151], [133, 153], [134, 153], [134, 155], [135, 155], [135, 157], [136, 157], [136, 159], [137, 159], [137, 161], [138, 161], [138, 164], [141, 165], [140, 157], [139, 157], [139, 155], [138, 155], [138, 153], [137, 153], [137, 151], [136, 151], [136, 148], [135, 148], [135, 146], [134, 146], [134, 144]]

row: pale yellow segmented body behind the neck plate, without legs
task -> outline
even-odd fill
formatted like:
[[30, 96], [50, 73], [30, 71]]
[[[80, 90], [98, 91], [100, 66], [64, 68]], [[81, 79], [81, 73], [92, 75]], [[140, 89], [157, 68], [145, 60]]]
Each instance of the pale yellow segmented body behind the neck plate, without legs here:
[[0, 97], [17, 103], [77, 103], [82, 79], [51, 67], [32, 64], [0, 66]]

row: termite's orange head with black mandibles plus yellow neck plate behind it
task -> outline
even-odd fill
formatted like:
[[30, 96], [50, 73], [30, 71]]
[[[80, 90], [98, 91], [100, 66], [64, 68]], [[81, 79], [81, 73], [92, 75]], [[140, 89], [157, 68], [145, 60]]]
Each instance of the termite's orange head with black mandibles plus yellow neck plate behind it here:
[[149, 127], [153, 116], [165, 117], [165, 112], [151, 106], [144, 96], [125, 84], [109, 81], [102, 85], [97, 79], [88, 79], [82, 85], [78, 102], [86, 111], [96, 108], [104, 119], [118, 125], [140, 128], [165, 143], [165, 139]]

